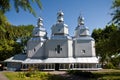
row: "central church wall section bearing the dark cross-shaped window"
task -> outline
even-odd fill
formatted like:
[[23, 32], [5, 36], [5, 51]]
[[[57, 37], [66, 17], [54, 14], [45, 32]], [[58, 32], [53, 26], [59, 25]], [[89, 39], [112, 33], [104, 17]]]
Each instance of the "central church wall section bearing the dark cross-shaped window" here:
[[[57, 47], [60, 45], [59, 53]], [[66, 58], [68, 57], [68, 40], [48, 40], [45, 49], [46, 56], [49, 58]]]

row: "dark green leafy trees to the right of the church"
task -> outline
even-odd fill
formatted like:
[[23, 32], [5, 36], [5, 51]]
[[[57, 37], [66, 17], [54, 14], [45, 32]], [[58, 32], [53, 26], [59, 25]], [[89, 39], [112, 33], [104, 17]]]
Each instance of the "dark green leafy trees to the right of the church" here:
[[111, 56], [116, 54], [118, 55], [120, 53], [119, 34], [120, 30], [118, 30], [118, 27], [114, 24], [106, 26], [104, 29], [93, 30], [92, 37], [96, 41], [96, 53], [97, 56], [100, 56], [100, 62], [102, 63], [102, 66], [104, 64], [109, 65], [109, 62], [114, 64]]

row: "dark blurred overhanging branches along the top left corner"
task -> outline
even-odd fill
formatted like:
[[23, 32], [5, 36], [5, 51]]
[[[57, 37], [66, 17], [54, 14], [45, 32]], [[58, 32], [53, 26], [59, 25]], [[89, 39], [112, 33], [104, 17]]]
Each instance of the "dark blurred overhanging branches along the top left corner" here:
[[[33, 4], [34, 2], [38, 5], [38, 7], [40, 9], [42, 9], [42, 4], [40, 2], [40, 0], [13, 0], [14, 2], [14, 7], [16, 12], [19, 12], [19, 9], [23, 9], [24, 11], [29, 11], [30, 13], [32, 13], [34, 16], [36, 16], [36, 13], [33, 9], [33, 6], [31, 4]], [[10, 0], [0, 0], [0, 10], [2, 12], [7, 12], [11, 9], [11, 4], [10, 4]]]

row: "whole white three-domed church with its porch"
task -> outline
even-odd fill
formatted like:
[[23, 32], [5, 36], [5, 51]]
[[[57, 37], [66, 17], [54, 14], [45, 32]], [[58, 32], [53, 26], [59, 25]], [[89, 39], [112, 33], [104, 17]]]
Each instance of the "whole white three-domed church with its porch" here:
[[64, 23], [64, 13], [57, 13], [57, 22], [51, 27], [51, 37], [38, 18], [32, 38], [27, 42], [27, 53], [15, 55], [5, 62], [8, 70], [98, 70], [99, 60], [95, 53], [95, 41], [84, 25], [84, 18], [78, 17], [73, 37]]

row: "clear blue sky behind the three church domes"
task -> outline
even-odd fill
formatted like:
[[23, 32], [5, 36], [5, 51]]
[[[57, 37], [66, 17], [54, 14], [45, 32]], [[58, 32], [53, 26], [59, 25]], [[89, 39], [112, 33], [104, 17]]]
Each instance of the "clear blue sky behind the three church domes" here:
[[[12, 3], [12, 0], [10, 0]], [[28, 25], [36, 26], [37, 18], [42, 17], [44, 27], [51, 35], [51, 27], [57, 22], [57, 12], [62, 10], [64, 12], [64, 23], [68, 25], [69, 34], [74, 35], [74, 30], [77, 23], [77, 18], [81, 14], [85, 19], [85, 26], [90, 30], [90, 33], [95, 28], [104, 28], [112, 19], [110, 13], [112, 12], [113, 0], [41, 0], [43, 9], [39, 9], [36, 4], [32, 4], [37, 13], [34, 17], [29, 12], [20, 9], [19, 13], [15, 12], [14, 7], [5, 15], [8, 21], [13, 25]]]

